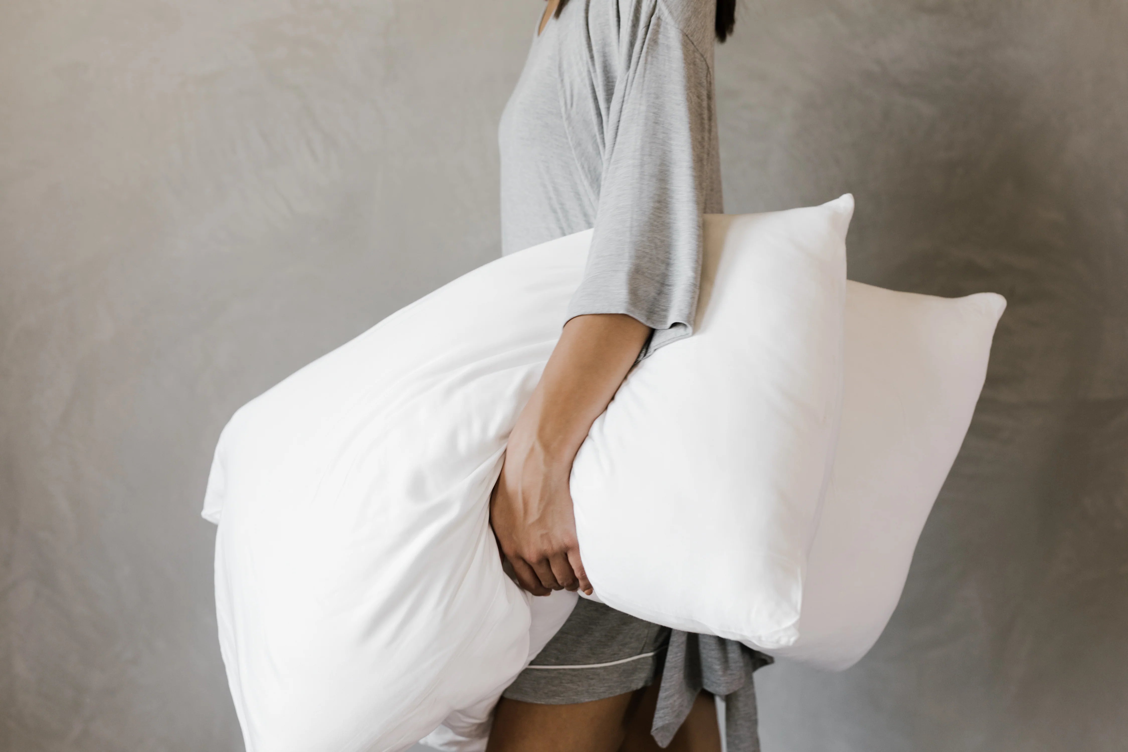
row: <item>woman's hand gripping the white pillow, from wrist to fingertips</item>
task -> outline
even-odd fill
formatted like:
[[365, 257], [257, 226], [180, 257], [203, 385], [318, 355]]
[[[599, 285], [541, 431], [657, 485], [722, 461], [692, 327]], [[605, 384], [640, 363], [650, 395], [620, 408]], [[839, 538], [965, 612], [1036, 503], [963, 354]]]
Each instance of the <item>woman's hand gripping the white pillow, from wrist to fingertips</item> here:
[[572, 463], [549, 458], [529, 433], [519, 419], [510, 434], [490, 497], [494, 534], [517, 581], [534, 595], [578, 589], [590, 595], [569, 492]]

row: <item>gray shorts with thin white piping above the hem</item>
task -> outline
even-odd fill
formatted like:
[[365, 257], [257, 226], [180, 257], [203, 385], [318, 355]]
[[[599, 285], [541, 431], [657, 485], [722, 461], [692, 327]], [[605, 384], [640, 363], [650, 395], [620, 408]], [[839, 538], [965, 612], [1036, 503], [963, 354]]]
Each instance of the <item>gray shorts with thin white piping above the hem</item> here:
[[649, 685], [670, 629], [581, 598], [545, 649], [502, 695], [537, 705], [590, 702]]

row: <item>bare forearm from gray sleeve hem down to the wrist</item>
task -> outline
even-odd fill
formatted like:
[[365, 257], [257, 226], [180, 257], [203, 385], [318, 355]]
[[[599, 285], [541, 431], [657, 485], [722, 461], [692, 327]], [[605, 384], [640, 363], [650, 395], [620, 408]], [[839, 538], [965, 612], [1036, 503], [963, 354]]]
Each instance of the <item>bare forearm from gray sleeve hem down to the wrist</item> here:
[[576, 316], [564, 325], [514, 436], [548, 465], [571, 468], [591, 424], [623, 383], [650, 327], [625, 313]]

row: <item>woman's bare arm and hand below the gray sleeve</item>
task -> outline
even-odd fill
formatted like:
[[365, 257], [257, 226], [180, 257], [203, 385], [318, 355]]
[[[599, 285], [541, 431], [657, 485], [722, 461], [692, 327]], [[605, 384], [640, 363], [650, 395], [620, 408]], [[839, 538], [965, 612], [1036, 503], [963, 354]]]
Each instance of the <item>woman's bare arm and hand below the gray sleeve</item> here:
[[649, 335], [650, 327], [625, 313], [570, 319], [517, 418], [490, 521], [518, 581], [535, 595], [592, 592], [575, 536], [572, 460]]

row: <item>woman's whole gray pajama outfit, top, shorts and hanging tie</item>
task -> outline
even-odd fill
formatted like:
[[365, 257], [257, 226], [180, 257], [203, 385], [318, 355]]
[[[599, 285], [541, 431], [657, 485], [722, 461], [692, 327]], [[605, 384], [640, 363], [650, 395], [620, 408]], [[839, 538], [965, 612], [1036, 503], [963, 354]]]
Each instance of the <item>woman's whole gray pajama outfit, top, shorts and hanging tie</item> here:
[[[714, 16], [708, 0], [571, 0], [534, 39], [500, 125], [503, 255], [594, 228], [561, 325], [632, 316], [653, 329], [636, 362], [693, 333], [704, 214], [724, 211]], [[616, 643], [632, 630], [645, 639]], [[669, 743], [704, 688], [726, 697], [729, 750], [757, 750], [751, 675], [770, 660], [739, 643], [581, 601], [537, 662], [594, 666], [649, 652], [640, 643], [655, 649], [667, 634], [664, 658], [656, 651], [592, 670], [526, 670], [505, 696], [600, 699], [649, 684], [664, 661], [656, 740]]]

